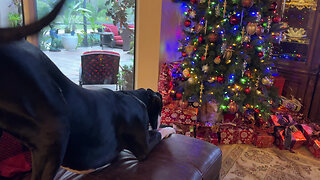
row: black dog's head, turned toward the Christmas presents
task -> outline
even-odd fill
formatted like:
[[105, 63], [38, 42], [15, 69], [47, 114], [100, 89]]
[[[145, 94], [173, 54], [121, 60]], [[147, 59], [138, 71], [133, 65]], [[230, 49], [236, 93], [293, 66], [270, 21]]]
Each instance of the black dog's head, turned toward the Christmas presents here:
[[161, 120], [161, 111], [162, 111], [162, 96], [158, 92], [154, 92], [151, 89], [147, 89], [147, 95], [149, 103], [147, 105], [149, 123], [152, 129], [158, 129]]

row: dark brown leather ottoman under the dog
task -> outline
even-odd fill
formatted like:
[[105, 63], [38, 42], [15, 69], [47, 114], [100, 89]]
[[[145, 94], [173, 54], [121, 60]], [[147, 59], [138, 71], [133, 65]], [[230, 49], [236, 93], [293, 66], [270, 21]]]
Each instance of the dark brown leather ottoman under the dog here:
[[218, 179], [221, 150], [205, 141], [174, 134], [161, 141], [143, 162], [122, 151], [107, 168], [86, 175], [60, 169], [56, 179], [63, 180], [191, 180]]

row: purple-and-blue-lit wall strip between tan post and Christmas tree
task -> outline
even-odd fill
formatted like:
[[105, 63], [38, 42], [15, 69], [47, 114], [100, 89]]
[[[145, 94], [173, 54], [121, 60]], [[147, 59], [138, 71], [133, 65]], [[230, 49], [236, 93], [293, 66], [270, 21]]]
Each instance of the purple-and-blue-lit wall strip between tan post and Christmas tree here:
[[178, 40], [183, 36], [181, 5], [182, 3], [173, 3], [172, 0], [162, 0], [160, 63], [177, 61], [180, 57], [177, 50]]

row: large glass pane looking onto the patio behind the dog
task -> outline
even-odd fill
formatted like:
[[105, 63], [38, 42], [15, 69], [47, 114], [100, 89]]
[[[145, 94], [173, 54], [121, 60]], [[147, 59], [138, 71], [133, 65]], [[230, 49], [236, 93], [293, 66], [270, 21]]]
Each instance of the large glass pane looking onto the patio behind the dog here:
[[[58, 2], [36, 1], [39, 18]], [[67, 0], [56, 20], [39, 33], [39, 44], [41, 50], [73, 82], [99, 87], [102, 83], [104, 87], [114, 90], [130, 90], [134, 84], [134, 30], [135, 0]], [[88, 51], [104, 52], [95, 52], [95, 57], [90, 56], [97, 62], [94, 71], [83, 72], [84, 61], [88, 60], [82, 55]], [[104, 55], [99, 56], [99, 53]], [[120, 56], [119, 66], [103, 60], [114, 58], [114, 55]], [[116, 82], [113, 80], [109, 86], [106, 84], [110, 84], [107, 80], [110, 73], [106, 72], [106, 68], [110, 66], [119, 73], [115, 76]], [[90, 74], [91, 80], [83, 79], [86, 73]], [[105, 79], [93, 80], [93, 77]]]

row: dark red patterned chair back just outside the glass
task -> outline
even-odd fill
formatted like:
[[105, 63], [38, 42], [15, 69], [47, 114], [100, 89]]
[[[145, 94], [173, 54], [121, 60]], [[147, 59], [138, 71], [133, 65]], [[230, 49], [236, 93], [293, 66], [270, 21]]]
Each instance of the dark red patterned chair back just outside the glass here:
[[110, 51], [88, 51], [81, 56], [80, 85], [117, 84], [120, 54]]

